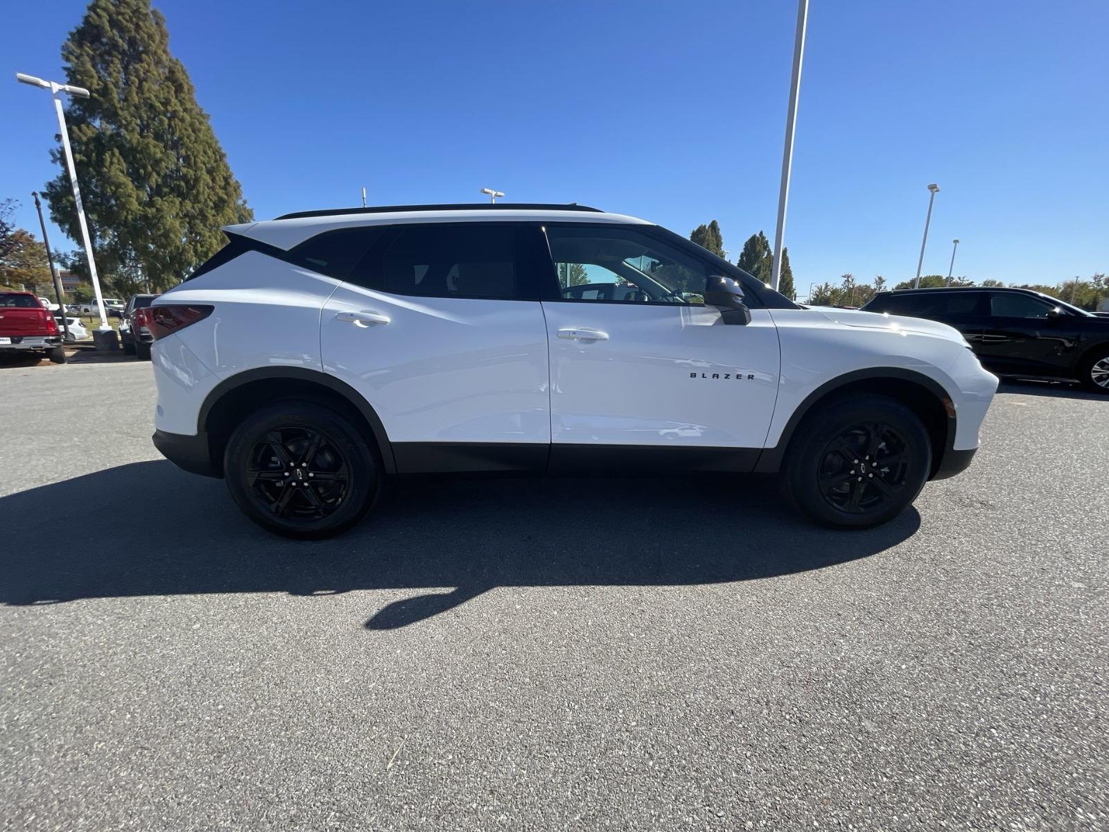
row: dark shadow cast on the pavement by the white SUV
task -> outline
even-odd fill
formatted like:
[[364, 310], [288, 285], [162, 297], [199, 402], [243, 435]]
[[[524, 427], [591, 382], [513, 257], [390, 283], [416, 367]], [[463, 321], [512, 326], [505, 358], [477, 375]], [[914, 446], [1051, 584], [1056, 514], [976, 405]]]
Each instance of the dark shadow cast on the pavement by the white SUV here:
[[[57, 525], [59, 506], [84, 518], [82, 545]], [[501, 586], [698, 585], [821, 569], [888, 549], [920, 525], [909, 508], [876, 529], [818, 528], [762, 477], [426, 478], [400, 483], [346, 535], [297, 541], [250, 522], [222, 481], [164, 460], [2, 497], [0, 518], [6, 605], [436, 590], [386, 606], [368, 629], [420, 621]]]

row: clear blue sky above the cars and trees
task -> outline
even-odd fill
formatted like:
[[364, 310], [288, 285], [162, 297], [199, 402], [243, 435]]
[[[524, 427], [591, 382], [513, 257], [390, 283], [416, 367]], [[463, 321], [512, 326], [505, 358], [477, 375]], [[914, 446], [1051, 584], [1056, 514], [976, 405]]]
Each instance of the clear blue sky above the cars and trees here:
[[[84, 3], [6, 9], [0, 199], [54, 175], [49, 95]], [[161, 0], [260, 219], [312, 207], [571, 202], [734, 260], [773, 235], [796, 4]], [[798, 294], [853, 272], [1057, 283], [1109, 271], [1109, 3], [815, 0], [786, 245]], [[77, 247], [51, 229], [54, 247]]]

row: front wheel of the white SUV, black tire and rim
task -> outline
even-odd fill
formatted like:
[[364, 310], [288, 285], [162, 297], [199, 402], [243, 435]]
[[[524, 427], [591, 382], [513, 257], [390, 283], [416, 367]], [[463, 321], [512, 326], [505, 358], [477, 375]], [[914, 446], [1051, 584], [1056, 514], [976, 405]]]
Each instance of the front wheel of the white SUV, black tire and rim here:
[[878, 526], [904, 511], [932, 468], [920, 419], [899, 402], [872, 394], [818, 407], [794, 433], [783, 469], [797, 509], [843, 528]]

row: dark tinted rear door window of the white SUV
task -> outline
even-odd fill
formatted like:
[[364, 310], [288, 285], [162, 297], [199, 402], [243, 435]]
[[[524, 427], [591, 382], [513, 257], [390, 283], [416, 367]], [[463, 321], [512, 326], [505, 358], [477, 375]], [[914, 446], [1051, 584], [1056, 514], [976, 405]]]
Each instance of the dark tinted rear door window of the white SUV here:
[[424, 297], [520, 297], [516, 229], [403, 226], [385, 253], [379, 285], [384, 292]]

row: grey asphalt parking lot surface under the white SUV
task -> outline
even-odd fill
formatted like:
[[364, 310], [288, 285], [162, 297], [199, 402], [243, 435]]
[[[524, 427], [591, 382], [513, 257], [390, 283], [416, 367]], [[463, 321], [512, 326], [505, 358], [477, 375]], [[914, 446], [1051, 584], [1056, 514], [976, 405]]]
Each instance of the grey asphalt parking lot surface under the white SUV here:
[[0, 367], [0, 828], [1109, 828], [1109, 398], [865, 532], [762, 479], [434, 480], [326, 542]]

